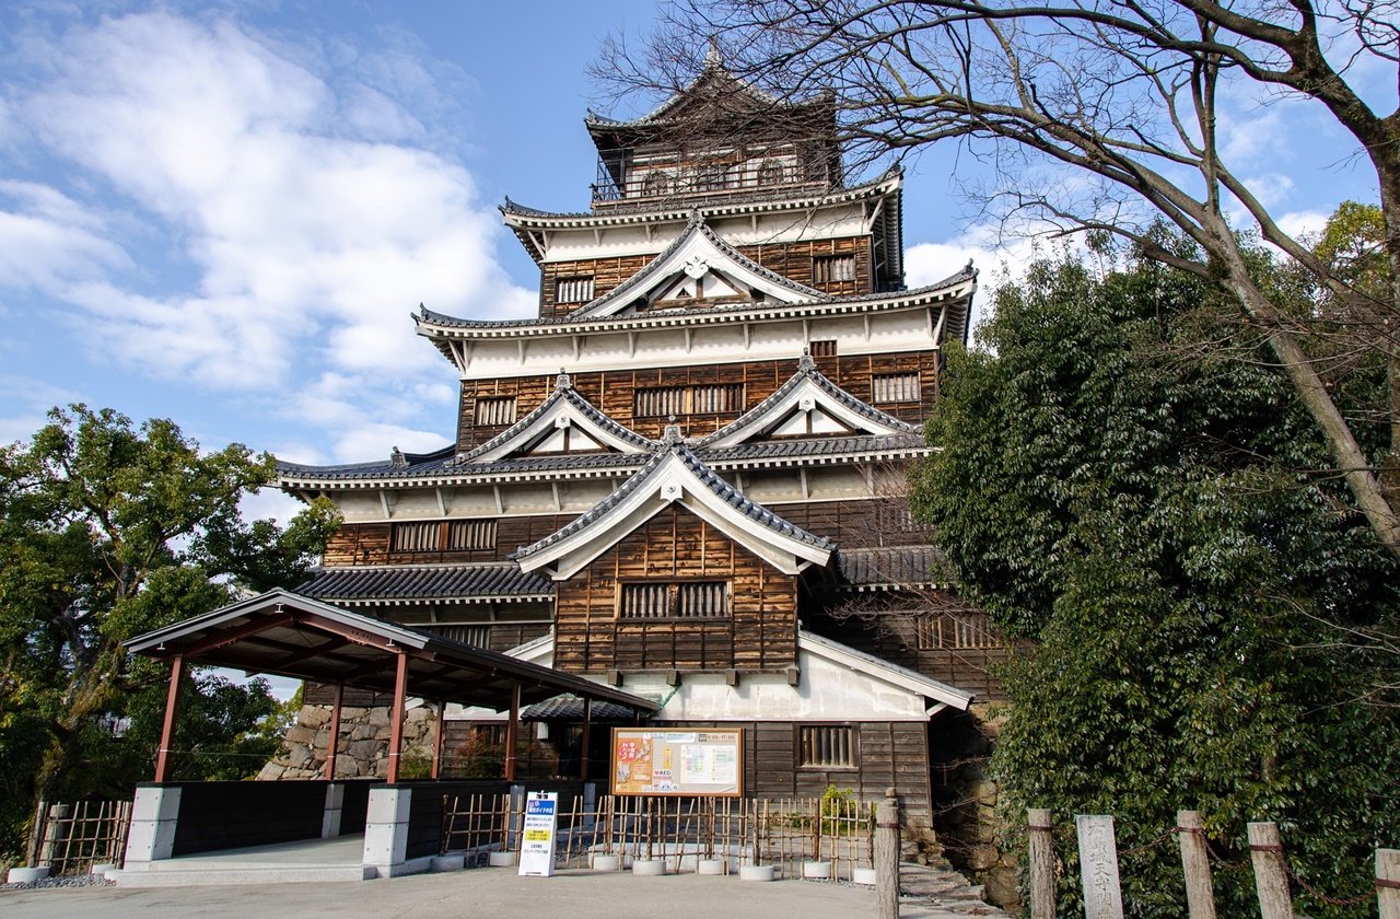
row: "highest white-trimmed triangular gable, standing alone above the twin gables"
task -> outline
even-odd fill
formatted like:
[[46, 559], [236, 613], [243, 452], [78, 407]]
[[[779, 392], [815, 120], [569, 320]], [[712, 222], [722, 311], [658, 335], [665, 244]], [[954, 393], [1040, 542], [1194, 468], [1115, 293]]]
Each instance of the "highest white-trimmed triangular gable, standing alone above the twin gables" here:
[[692, 213], [685, 231], [666, 251], [602, 297], [570, 312], [568, 318], [596, 319], [616, 315], [636, 303], [638, 297], [645, 298], [657, 291], [668, 290], [668, 282], [683, 277], [701, 280], [707, 275], [714, 275], [736, 294], [757, 291], [787, 304], [830, 298], [819, 290], [790, 280], [777, 272], [770, 272], [742, 255], [707, 227], [704, 216], [697, 210]]

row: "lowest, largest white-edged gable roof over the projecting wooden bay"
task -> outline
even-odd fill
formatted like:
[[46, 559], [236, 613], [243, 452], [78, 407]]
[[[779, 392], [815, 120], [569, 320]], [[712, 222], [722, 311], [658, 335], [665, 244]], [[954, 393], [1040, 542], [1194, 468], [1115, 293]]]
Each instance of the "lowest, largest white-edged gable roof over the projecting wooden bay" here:
[[834, 544], [741, 495], [666, 429], [662, 444], [633, 478], [561, 530], [511, 555], [522, 570], [566, 580], [672, 503], [785, 574], [823, 566]]

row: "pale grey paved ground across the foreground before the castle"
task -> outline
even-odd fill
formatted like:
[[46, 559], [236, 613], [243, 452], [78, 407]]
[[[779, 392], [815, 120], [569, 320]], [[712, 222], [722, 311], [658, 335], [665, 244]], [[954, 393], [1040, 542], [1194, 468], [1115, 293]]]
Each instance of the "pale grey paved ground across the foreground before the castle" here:
[[[994, 911], [1000, 912], [1000, 911]], [[746, 883], [736, 877], [633, 877], [563, 871], [519, 877], [504, 869], [419, 874], [358, 884], [269, 884], [126, 890], [115, 887], [0, 891], [6, 919], [858, 919], [875, 915], [875, 892], [813, 881]], [[902, 919], [944, 919], [927, 899], [904, 899]], [[974, 913], [976, 915], [976, 913]]]

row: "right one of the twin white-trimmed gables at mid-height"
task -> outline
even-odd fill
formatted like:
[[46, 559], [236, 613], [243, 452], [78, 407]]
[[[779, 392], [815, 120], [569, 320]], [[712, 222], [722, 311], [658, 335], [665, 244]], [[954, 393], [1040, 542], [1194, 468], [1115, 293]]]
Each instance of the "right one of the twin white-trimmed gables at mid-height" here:
[[914, 424], [861, 402], [832, 382], [809, 354], [802, 354], [797, 373], [777, 392], [696, 447], [718, 450], [762, 437], [917, 433]]

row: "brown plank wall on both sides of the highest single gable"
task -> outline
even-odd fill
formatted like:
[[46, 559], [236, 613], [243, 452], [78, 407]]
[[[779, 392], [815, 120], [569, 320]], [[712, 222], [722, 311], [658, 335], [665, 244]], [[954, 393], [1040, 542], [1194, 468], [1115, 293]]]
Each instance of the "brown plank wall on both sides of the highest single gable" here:
[[[869, 235], [860, 235], [806, 240], [801, 242], [741, 245], [736, 248], [770, 272], [820, 290], [822, 293], [841, 296], [871, 293], [875, 289], [871, 245]], [[855, 277], [844, 282], [816, 283], [812, 276], [813, 259], [827, 255], [854, 255]], [[574, 262], [550, 262], [543, 265], [539, 282], [540, 318], [566, 315], [584, 305], [582, 303], [559, 303], [557, 290], [560, 279], [592, 277], [594, 297], [596, 298], [626, 282], [655, 258], [655, 255], [624, 255], [619, 258], [578, 259]]]

